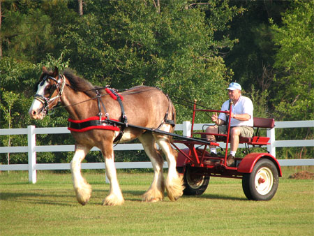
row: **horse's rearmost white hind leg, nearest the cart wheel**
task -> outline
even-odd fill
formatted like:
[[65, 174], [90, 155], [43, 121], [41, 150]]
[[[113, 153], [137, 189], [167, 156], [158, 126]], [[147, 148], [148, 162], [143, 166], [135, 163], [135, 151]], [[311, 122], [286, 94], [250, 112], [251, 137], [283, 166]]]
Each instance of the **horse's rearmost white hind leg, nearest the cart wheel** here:
[[165, 182], [165, 188], [167, 190], [168, 198], [174, 201], [182, 196], [184, 190], [183, 179], [177, 172], [177, 153], [171, 147], [168, 138], [161, 135], [155, 135], [155, 138], [167, 158], [168, 175]]

